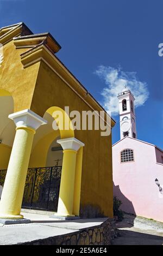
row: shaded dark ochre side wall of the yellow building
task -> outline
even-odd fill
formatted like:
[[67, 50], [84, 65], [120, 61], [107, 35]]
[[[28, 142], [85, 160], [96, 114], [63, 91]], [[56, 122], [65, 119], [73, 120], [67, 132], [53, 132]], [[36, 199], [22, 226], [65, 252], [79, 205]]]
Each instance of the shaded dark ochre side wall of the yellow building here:
[[[43, 99], [43, 101], [42, 101]], [[45, 63], [40, 64], [31, 109], [43, 116], [52, 105], [71, 110], [91, 110]], [[77, 139], [85, 143], [83, 150], [82, 193], [80, 205], [92, 205], [112, 217], [111, 135], [99, 130], [75, 130]]]

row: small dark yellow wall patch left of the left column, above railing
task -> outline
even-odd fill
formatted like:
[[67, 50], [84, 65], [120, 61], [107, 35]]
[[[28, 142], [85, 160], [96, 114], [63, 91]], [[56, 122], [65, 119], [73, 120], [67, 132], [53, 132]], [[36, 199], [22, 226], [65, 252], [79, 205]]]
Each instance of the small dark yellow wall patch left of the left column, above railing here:
[[0, 144], [0, 170], [7, 170], [11, 149], [8, 145]]

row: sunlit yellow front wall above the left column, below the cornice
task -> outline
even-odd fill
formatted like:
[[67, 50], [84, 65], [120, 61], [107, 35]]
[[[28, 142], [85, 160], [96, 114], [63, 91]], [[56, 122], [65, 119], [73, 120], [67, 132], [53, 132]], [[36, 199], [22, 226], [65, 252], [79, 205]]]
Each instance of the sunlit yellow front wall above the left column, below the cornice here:
[[16, 49], [13, 41], [3, 46], [4, 61], [0, 72], [0, 89], [10, 92], [14, 112], [30, 109], [40, 63], [23, 69], [20, 54], [27, 49]]

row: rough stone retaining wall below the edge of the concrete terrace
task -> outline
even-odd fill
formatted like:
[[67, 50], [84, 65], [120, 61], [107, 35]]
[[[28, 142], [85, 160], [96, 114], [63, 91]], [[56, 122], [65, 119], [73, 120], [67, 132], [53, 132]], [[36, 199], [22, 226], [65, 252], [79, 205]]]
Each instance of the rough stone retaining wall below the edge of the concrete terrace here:
[[49, 237], [21, 245], [111, 245], [116, 237], [115, 219], [108, 218], [101, 225], [80, 229], [74, 233]]

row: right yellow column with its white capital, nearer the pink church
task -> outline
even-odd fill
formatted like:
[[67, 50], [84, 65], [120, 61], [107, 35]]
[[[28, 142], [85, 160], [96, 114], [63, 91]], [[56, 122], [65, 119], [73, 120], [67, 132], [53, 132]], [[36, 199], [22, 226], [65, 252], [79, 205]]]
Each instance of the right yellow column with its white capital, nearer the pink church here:
[[64, 157], [62, 162], [61, 183], [59, 192], [58, 211], [55, 216], [74, 217], [74, 180], [76, 173], [77, 151], [83, 147], [83, 142], [76, 138], [57, 140], [62, 146]]

